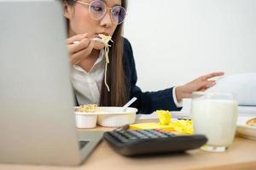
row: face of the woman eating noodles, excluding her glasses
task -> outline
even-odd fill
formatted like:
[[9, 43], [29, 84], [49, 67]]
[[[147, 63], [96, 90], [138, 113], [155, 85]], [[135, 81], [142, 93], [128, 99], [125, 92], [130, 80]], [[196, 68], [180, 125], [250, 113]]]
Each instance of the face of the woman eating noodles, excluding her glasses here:
[[[93, 0], [80, 1], [84, 3], [90, 3]], [[102, 2], [106, 3], [108, 8], [121, 5], [121, 0], [108, 0]], [[90, 16], [89, 5], [74, 3], [72, 7], [64, 4], [64, 8], [64, 15], [67, 20], [69, 20], [69, 37], [84, 33], [88, 33], [90, 38], [97, 37], [98, 34], [113, 36], [113, 32], [115, 31], [117, 25], [113, 23], [109, 9], [101, 20], [95, 20]], [[95, 42], [94, 44], [94, 48], [96, 49], [104, 48], [104, 45], [101, 42]]]

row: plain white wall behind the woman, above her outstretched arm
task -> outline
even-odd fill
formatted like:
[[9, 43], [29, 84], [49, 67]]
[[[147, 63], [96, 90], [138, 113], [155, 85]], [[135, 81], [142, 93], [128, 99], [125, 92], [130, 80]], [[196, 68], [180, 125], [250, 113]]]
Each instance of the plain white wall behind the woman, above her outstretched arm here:
[[255, 8], [255, 0], [128, 0], [137, 85], [154, 91], [212, 71], [256, 72]]

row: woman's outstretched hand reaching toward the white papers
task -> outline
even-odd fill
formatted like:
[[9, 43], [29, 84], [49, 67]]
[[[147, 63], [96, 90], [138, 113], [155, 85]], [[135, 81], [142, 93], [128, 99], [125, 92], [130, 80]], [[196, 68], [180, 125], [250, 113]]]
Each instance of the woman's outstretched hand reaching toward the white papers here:
[[202, 77], [198, 77], [192, 82], [188, 82], [183, 86], [177, 86], [175, 89], [177, 101], [184, 98], [191, 98], [191, 94], [195, 91], [204, 91], [215, 85], [215, 81], [208, 80], [212, 77], [223, 76], [224, 72], [212, 72]]

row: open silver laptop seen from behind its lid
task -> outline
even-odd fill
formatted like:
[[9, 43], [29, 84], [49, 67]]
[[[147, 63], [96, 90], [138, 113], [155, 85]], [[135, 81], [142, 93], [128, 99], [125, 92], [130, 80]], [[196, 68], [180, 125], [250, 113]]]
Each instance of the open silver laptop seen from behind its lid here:
[[80, 131], [61, 1], [0, 1], [0, 162], [79, 165], [102, 139]]

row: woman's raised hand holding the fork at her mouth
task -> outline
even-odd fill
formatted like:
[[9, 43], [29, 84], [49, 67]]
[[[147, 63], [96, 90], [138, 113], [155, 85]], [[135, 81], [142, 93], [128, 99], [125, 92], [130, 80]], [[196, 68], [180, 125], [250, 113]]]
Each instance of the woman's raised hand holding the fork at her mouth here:
[[79, 34], [67, 38], [67, 49], [70, 55], [69, 62], [77, 65], [90, 55], [94, 47], [94, 42], [90, 41], [88, 34]]

